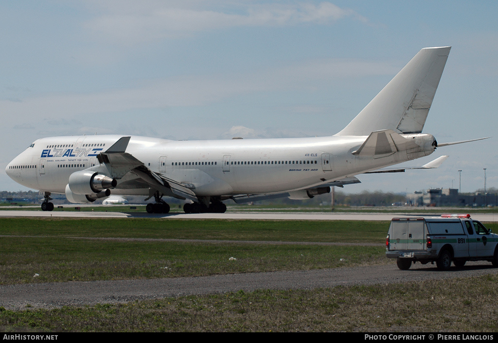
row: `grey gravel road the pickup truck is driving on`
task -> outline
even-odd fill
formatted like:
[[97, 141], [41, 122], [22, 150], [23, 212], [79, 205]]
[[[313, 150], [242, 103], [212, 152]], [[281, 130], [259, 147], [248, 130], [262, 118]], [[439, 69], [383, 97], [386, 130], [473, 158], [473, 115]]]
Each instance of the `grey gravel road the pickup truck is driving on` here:
[[133, 300], [216, 294], [256, 289], [313, 289], [338, 285], [370, 285], [497, 274], [490, 263], [468, 263], [463, 269], [437, 271], [427, 264], [407, 271], [395, 264], [308, 271], [283, 271], [152, 280], [61, 282], [0, 286], [0, 306], [10, 310], [64, 305], [124, 303]]

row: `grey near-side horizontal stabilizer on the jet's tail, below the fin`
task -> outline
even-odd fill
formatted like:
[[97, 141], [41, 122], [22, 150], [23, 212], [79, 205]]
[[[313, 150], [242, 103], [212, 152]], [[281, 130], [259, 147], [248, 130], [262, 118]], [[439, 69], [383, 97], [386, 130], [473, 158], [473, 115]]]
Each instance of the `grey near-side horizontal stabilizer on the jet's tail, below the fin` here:
[[412, 148], [420, 147], [392, 130], [380, 130], [372, 132], [353, 155], [383, 157]]

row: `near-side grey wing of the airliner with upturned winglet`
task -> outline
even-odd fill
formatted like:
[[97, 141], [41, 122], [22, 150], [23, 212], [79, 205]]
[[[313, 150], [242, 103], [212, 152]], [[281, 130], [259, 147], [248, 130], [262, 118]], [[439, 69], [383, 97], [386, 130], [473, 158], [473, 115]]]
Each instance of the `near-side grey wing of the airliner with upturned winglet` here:
[[179, 199], [190, 199], [198, 201], [195, 193], [185, 187], [183, 184], [167, 178], [157, 172], [153, 172], [145, 164], [136, 159], [131, 154], [125, 152], [131, 137], [120, 138], [106, 152], [97, 156], [101, 164], [112, 174], [114, 178], [122, 178], [127, 173], [131, 172], [136, 175], [141, 181], [145, 182], [151, 188], [152, 194], [156, 190], [164, 195], [172, 196]]

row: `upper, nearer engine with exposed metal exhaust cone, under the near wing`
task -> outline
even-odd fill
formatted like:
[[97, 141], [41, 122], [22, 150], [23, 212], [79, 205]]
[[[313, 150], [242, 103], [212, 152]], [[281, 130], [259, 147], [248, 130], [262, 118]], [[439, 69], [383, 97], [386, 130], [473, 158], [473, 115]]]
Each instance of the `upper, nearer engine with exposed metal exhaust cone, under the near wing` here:
[[100, 193], [104, 189], [114, 188], [116, 179], [92, 171], [73, 172], [69, 176], [69, 187], [74, 194]]

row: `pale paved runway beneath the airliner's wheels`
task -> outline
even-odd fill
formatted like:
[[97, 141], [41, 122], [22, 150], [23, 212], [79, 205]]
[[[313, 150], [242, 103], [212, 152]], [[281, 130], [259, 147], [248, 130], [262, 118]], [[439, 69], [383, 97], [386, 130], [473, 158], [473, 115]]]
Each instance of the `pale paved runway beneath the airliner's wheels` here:
[[[40, 210], [0, 210], [0, 217], [84, 217], [84, 218], [168, 218], [168, 219], [249, 219], [249, 220], [384, 220], [390, 221], [394, 217], [420, 217], [420, 213], [352, 213], [352, 212], [227, 212], [227, 213], [124, 213], [98, 211], [52, 211]], [[427, 213], [427, 216], [435, 214]], [[482, 222], [498, 222], [498, 214], [472, 214], [472, 218]]]

